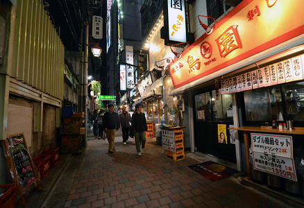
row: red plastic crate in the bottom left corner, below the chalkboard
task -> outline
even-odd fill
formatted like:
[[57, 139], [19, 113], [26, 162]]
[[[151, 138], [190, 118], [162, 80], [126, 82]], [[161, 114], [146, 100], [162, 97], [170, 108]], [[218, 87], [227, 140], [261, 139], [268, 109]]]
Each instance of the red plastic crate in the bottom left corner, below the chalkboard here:
[[0, 207], [1, 208], [15, 207], [16, 184], [3, 184], [0, 185], [0, 189], [6, 189], [6, 192], [4, 192], [0, 196]]

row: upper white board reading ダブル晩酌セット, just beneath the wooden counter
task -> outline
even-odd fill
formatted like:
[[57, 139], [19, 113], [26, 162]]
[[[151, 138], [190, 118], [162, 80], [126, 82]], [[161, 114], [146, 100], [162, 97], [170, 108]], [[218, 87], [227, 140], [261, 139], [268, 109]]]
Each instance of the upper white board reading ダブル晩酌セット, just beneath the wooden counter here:
[[292, 136], [251, 133], [253, 152], [292, 158]]

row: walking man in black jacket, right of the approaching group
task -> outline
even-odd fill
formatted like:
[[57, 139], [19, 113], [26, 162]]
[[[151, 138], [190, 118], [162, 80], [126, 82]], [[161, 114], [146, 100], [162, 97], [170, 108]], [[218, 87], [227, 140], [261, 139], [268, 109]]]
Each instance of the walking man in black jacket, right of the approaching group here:
[[144, 145], [146, 144], [146, 131], [148, 127], [146, 125], [146, 116], [142, 112], [142, 105], [140, 103], [135, 105], [131, 125], [134, 132], [137, 155], [142, 156], [142, 153], [144, 153]]

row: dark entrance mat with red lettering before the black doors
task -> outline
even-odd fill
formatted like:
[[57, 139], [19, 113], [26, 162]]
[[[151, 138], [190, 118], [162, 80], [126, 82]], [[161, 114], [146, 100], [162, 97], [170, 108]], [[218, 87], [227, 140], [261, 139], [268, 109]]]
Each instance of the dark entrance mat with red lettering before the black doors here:
[[188, 167], [212, 181], [229, 177], [231, 174], [237, 172], [231, 168], [227, 168], [212, 161], [194, 164]]

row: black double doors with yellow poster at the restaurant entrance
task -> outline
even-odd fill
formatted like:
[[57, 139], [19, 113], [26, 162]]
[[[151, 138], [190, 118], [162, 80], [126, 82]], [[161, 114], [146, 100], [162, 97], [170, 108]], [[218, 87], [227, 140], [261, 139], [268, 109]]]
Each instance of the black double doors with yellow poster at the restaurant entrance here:
[[233, 125], [231, 94], [217, 96], [214, 87], [208, 87], [192, 95], [196, 150], [236, 162], [233, 132], [228, 130]]

